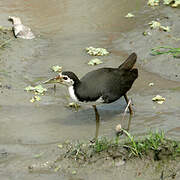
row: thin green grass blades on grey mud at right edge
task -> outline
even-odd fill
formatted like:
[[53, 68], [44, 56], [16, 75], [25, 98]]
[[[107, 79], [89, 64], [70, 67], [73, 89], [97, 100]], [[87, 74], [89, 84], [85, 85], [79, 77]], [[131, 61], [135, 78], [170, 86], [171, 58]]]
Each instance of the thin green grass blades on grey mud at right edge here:
[[160, 46], [160, 47], [153, 48], [151, 50], [151, 54], [152, 55], [172, 54], [173, 57], [178, 57], [180, 55], [180, 48]]

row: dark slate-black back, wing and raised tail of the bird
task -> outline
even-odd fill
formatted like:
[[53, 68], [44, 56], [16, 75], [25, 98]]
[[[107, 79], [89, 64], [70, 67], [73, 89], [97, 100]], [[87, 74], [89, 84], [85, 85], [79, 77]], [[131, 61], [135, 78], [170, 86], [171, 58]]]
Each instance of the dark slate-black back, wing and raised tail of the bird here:
[[136, 57], [132, 53], [118, 68], [100, 68], [87, 73], [75, 88], [78, 99], [95, 101], [102, 97], [105, 103], [111, 103], [125, 95], [138, 77], [138, 70], [132, 69]]

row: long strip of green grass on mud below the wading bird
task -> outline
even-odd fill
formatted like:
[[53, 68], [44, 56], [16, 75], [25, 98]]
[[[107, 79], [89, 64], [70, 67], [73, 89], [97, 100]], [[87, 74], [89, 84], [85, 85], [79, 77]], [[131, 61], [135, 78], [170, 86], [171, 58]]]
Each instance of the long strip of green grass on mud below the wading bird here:
[[[111, 156], [117, 152], [118, 157], [143, 157], [154, 154], [154, 159], [158, 160], [161, 152], [166, 152], [167, 157], [180, 156], [180, 143], [165, 138], [163, 131], [150, 131], [144, 139], [137, 139], [128, 131], [123, 130], [127, 136], [125, 141], [122, 137], [108, 139], [106, 137], [98, 138], [94, 142], [67, 145], [66, 157], [72, 158], [78, 162], [91, 161], [92, 157]], [[97, 155], [97, 156], [96, 156]]]

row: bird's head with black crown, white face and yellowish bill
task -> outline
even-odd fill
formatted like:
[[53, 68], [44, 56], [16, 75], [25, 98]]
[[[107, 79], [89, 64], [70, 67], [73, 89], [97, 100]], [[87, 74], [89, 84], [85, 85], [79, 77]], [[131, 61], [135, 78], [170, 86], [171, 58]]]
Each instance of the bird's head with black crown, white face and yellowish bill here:
[[69, 87], [69, 86], [73, 86], [77, 84], [78, 82], [79, 82], [79, 79], [73, 72], [64, 71], [62, 73], [59, 73], [58, 76], [48, 79], [47, 81], [44, 82], [44, 84], [60, 83]]

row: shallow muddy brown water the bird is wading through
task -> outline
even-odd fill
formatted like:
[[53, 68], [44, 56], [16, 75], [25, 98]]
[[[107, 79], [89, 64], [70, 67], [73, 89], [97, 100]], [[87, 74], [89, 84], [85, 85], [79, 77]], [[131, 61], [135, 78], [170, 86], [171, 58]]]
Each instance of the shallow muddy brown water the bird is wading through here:
[[[48, 145], [67, 139], [94, 137], [93, 109], [87, 105], [78, 112], [67, 108], [71, 100], [65, 87], [57, 86], [54, 93], [52, 86], [47, 86], [48, 92], [42, 100], [33, 104], [29, 102], [33, 94], [25, 92], [24, 88], [54, 76], [50, 70], [53, 65], [76, 72], [79, 77], [98, 67], [117, 67], [128, 54], [121, 49], [116, 50], [114, 42], [149, 18], [144, 3], [142, 0], [114, 3], [108, 0], [0, 2], [2, 26], [11, 26], [8, 16], [19, 16], [37, 37], [31, 41], [15, 39], [1, 53], [0, 81], [10, 89], [2, 88], [0, 93], [0, 149], [24, 157], [35, 151], [33, 146], [26, 145]], [[137, 17], [124, 18], [128, 12], [137, 14]], [[102, 65], [90, 67], [87, 62], [91, 57], [84, 51], [87, 46], [104, 47], [112, 53], [101, 58]], [[179, 90], [172, 90], [178, 84], [139, 69], [139, 78], [129, 92], [135, 110], [131, 132], [141, 135], [151, 128], [162, 128], [178, 139]], [[150, 82], [155, 86], [149, 87]], [[156, 94], [166, 97], [163, 105], [151, 101]], [[114, 128], [119, 123], [127, 127], [128, 115], [122, 121], [124, 100], [99, 106], [98, 109], [101, 115], [100, 135], [114, 135]], [[17, 148], [22, 145], [23, 148]], [[14, 167], [10, 165], [11, 168]], [[44, 178], [48, 179], [48, 176]]]

